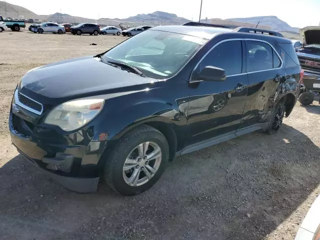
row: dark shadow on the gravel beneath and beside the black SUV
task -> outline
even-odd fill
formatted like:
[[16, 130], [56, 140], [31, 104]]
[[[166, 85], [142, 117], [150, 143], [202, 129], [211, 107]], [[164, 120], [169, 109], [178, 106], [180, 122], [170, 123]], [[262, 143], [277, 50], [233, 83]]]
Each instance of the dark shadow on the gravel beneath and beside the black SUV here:
[[273, 135], [254, 132], [177, 157], [150, 190], [127, 197], [102, 183], [95, 193], [70, 192], [17, 155], [0, 168], [0, 234], [262, 239], [318, 186], [319, 156], [305, 134], [283, 124]]

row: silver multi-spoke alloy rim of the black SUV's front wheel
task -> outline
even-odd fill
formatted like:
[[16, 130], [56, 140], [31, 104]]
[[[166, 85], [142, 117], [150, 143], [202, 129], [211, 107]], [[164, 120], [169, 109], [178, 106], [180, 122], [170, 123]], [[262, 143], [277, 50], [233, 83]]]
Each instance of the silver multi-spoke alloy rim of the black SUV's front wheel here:
[[134, 147], [123, 164], [125, 183], [140, 186], [148, 182], [158, 170], [161, 158], [161, 148], [155, 142], [146, 141]]

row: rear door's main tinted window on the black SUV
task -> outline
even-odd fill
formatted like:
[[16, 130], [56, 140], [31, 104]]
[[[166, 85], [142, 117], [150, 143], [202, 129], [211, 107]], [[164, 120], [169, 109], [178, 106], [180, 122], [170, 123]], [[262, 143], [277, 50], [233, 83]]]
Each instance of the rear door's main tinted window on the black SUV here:
[[260, 41], [246, 41], [246, 71], [260, 71], [273, 68], [272, 48]]

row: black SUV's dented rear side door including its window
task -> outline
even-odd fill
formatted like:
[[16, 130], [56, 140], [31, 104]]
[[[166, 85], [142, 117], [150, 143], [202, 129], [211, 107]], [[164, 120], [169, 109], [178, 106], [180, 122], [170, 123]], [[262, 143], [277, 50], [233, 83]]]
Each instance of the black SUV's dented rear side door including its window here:
[[245, 40], [245, 52], [249, 87], [240, 128], [267, 121], [276, 89], [286, 75], [282, 59], [270, 43]]

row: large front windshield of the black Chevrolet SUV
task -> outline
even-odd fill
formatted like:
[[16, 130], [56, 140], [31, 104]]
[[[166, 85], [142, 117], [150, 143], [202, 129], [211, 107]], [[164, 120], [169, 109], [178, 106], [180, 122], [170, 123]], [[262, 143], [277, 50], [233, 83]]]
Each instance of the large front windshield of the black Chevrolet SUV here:
[[145, 76], [164, 79], [174, 75], [205, 42], [195, 36], [148, 30], [110, 49], [103, 58], [134, 66]]

